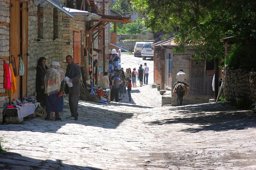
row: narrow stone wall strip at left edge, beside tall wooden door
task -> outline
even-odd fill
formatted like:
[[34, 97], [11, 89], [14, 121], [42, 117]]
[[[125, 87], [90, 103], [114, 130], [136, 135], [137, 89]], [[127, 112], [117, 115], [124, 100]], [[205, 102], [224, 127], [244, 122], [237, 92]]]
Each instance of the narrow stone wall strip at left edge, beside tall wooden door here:
[[9, 64], [10, 56], [10, 0], [0, 2], [0, 123], [3, 122], [3, 111], [9, 103], [9, 96], [3, 88], [3, 60]]

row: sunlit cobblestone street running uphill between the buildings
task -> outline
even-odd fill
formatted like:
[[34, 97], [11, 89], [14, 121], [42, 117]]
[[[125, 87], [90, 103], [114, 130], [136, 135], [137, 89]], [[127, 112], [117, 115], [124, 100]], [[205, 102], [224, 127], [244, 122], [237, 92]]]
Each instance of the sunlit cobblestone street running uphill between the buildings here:
[[[153, 60], [122, 54], [121, 67], [146, 62], [149, 85], [120, 103], [79, 101], [78, 120], [64, 99], [62, 122], [44, 117], [0, 125], [1, 170], [255, 170], [256, 115], [230, 103], [161, 106]], [[138, 83], [138, 82], [137, 82]], [[138, 84], [137, 84], [138, 85]]]

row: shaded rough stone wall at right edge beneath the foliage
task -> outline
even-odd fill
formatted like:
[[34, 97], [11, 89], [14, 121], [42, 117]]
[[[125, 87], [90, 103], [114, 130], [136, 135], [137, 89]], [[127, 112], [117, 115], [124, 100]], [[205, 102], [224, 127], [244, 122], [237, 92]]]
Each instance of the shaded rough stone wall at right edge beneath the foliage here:
[[256, 72], [243, 69], [224, 69], [223, 92], [227, 100], [245, 98], [256, 103]]

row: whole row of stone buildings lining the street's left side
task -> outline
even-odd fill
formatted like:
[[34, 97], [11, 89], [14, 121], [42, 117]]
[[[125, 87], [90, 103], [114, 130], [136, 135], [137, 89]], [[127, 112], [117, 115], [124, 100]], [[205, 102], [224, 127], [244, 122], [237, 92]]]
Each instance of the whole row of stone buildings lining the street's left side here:
[[[60, 4], [63, 5], [63, 2]], [[94, 0], [84, 3], [87, 9], [97, 13]], [[105, 6], [108, 10], [107, 1]], [[110, 34], [107, 24], [130, 22], [128, 18], [111, 18], [106, 14], [99, 16], [85, 10], [73, 11], [72, 14], [69, 12], [71, 8], [67, 11], [53, 0], [2, 0], [0, 10], [0, 123], [6, 106], [14, 98], [35, 95], [36, 65], [40, 57], [46, 58], [48, 66], [52, 61], [59, 61], [64, 69], [66, 55], [74, 56], [75, 63], [80, 65], [84, 64], [84, 56], [90, 55], [94, 61], [100, 52], [98, 46], [108, 51], [108, 42], [105, 43]], [[106, 34], [101, 31], [104, 29]], [[100, 35], [104, 35], [104, 43], [98, 43]], [[100, 54], [98, 67], [104, 67], [103, 56], [107, 57], [108, 52], [104, 53]], [[20, 59], [24, 62], [25, 74], [16, 76], [17, 90], [10, 95], [3, 88], [3, 61], [15, 61], [18, 70]]]

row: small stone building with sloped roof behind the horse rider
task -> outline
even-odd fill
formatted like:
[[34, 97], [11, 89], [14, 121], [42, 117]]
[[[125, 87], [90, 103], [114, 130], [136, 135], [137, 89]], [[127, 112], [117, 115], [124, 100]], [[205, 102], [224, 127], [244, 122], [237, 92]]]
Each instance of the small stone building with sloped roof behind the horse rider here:
[[[189, 46], [184, 53], [175, 53], [173, 49], [177, 44], [174, 43], [174, 37], [153, 43], [151, 47], [154, 49], [154, 82], [162, 90], [172, 90], [177, 72], [183, 69], [189, 84], [189, 94], [183, 97], [182, 105], [205, 103], [213, 98], [213, 62], [192, 60], [195, 49]], [[171, 96], [171, 104], [177, 105], [177, 95]]]

